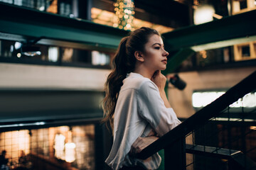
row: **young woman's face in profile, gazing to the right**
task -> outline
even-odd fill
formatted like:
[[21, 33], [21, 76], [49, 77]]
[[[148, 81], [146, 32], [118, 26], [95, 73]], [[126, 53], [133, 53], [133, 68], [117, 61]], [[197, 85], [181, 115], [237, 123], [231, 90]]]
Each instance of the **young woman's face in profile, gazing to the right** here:
[[144, 48], [144, 65], [151, 71], [166, 69], [167, 56], [164, 42], [159, 35], [151, 35]]

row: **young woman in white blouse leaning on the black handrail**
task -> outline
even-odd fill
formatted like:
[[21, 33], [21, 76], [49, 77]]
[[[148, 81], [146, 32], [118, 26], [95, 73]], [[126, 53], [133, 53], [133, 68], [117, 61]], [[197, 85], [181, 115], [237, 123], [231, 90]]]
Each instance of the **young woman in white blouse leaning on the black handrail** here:
[[146, 160], [135, 153], [180, 123], [164, 91], [168, 52], [159, 33], [139, 28], [123, 38], [107, 77], [104, 121], [110, 121], [114, 142], [106, 163], [117, 169], [157, 169], [159, 154]]

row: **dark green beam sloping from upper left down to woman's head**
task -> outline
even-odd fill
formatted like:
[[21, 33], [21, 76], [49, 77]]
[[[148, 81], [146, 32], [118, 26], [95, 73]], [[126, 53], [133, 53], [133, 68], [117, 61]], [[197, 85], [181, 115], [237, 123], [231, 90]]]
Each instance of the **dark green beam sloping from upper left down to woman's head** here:
[[62, 42], [73, 42], [71, 45], [80, 44], [87, 50], [113, 51], [129, 31], [80, 18], [0, 3], [0, 33], [21, 35], [24, 40], [42, 37], [43, 40], [38, 43], [48, 42], [49, 45], [55, 44], [50, 40], [55, 40], [60, 42], [60, 45]]

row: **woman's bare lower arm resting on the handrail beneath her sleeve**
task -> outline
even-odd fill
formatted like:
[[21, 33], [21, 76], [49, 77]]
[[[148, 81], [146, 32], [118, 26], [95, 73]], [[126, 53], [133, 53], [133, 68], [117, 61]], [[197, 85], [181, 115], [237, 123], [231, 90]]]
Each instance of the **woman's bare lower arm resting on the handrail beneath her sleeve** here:
[[158, 140], [159, 137], [156, 136], [149, 136], [149, 137], [138, 137], [137, 140], [132, 144], [132, 148], [130, 153], [132, 155], [142, 152], [142, 149], [146, 148], [147, 146], [151, 145], [151, 143]]

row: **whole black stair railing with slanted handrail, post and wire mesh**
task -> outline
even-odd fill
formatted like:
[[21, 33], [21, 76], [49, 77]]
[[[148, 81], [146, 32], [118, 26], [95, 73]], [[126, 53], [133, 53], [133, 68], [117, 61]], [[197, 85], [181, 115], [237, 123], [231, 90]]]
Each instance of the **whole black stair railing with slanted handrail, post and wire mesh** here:
[[137, 157], [164, 149], [164, 169], [256, 169], [256, 100], [245, 96], [256, 95], [255, 81], [256, 71]]

